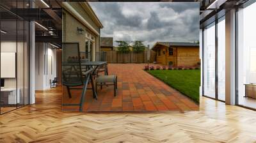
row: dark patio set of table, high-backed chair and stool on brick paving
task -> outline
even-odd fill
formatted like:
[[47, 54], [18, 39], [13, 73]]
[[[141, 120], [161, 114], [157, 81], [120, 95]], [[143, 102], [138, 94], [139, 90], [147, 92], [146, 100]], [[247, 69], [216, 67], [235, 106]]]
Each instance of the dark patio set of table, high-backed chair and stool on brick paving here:
[[[102, 86], [114, 86], [116, 96], [117, 77], [108, 75], [106, 61], [83, 60], [79, 52], [79, 43], [63, 43], [62, 53], [62, 85], [67, 87], [68, 97], [72, 98], [71, 90], [82, 90], [79, 103], [63, 103], [63, 106], [79, 106], [79, 111], [83, 111], [86, 90], [92, 89], [93, 98], [97, 100], [97, 86], [100, 86], [100, 89]], [[88, 88], [88, 84], [91, 84], [92, 88]]]

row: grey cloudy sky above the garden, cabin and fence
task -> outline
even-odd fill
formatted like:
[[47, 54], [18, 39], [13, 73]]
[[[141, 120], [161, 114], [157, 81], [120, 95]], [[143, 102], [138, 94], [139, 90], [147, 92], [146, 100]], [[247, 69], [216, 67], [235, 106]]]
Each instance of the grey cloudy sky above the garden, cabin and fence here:
[[[199, 39], [199, 3], [91, 2], [103, 29], [102, 37], [116, 40], [196, 41]], [[116, 43], [114, 44], [116, 45]]]

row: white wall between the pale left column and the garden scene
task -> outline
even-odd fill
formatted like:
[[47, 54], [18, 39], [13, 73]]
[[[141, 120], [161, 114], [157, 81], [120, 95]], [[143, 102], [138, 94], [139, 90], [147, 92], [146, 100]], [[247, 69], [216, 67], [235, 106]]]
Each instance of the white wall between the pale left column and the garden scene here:
[[56, 77], [56, 49], [53, 48], [49, 43], [36, 43], [36, 90], [49, 89], [51, 87], [50, 79], [53, 80]]

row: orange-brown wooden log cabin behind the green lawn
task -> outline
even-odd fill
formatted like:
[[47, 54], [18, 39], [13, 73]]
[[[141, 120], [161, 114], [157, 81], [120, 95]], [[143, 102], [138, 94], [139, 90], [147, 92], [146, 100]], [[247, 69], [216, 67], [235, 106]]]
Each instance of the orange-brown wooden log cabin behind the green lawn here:
[[198, 43], [157, 41], [152, 50], [156, 52], [156, 62], [159, 64], [188, 67], [200, 62]]

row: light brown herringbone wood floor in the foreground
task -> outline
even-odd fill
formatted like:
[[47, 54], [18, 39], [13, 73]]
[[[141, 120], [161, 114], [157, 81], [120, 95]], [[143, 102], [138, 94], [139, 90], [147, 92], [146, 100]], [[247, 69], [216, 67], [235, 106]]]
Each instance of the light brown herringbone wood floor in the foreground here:
[[0, 142], [256, 142], [256, 112], [201, 98], [200, 111], [61, 112], [61, 89], [0, 116]]

